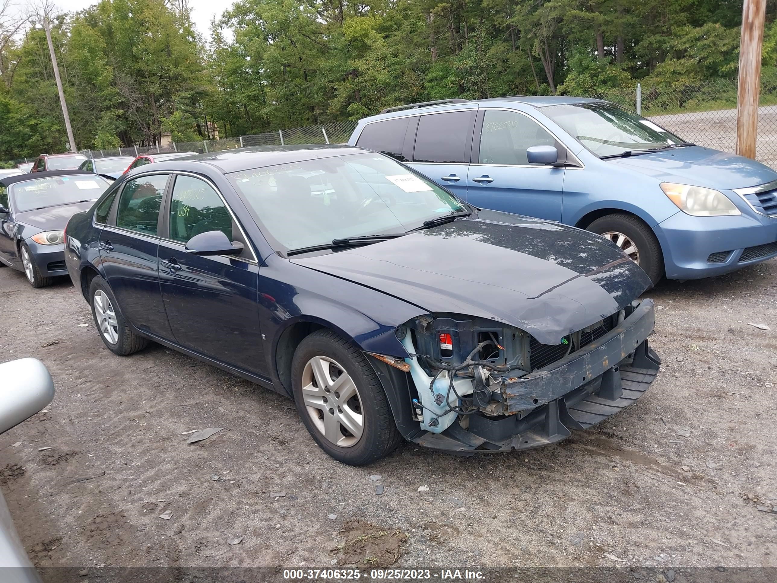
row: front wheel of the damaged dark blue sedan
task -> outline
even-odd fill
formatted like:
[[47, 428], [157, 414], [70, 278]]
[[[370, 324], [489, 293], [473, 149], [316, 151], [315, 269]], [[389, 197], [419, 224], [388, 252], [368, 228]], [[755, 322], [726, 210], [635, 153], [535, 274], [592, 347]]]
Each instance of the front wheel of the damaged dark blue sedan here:
[[334, 459], [364, 466], [402, 442], [375, 370], [354, 344], [336, 333], [317, 330], [301, 341], [291, 379], [305, 427]]

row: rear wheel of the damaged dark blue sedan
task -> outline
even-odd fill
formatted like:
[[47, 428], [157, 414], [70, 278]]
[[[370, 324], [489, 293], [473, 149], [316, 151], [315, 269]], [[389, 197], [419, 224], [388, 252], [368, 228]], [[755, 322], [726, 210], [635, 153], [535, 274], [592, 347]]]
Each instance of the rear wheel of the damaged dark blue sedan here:
[[116, 297], [99, 275], [89, 285], [89, 305], [97, 332], [113, 354], [128, 356], [146, 347], [148, 340], [131, 330], [121, 315]]

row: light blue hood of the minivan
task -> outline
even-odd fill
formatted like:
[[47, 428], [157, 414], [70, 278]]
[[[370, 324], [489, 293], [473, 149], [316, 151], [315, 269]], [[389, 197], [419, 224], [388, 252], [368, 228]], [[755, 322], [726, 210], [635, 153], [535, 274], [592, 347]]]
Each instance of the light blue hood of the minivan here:
[[777, 180], [777, 173], [761, 162], [701, 146], [613, 158], [606, 162], [652, 176], [659, 182], [716, 190], [754, 187]]

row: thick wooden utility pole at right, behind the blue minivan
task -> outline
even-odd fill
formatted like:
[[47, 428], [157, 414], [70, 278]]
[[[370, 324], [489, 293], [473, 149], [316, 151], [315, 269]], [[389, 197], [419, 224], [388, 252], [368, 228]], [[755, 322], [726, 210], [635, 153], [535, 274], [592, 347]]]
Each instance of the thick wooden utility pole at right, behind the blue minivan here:
[[755, 159], [766, 0], [744, 0], [737, 88], [737, 154]]

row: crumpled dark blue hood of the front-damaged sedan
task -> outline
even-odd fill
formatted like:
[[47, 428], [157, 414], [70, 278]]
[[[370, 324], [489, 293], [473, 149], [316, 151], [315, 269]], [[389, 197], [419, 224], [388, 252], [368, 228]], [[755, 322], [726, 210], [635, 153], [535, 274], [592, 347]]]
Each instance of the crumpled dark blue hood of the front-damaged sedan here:
[[598, 235], [497, 211], [291, 261], [428, 312], [517, 326], [542, 344], [559, 344], [650, 286], [639, 266]]

